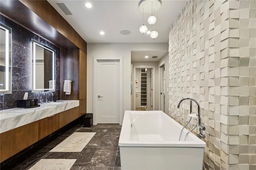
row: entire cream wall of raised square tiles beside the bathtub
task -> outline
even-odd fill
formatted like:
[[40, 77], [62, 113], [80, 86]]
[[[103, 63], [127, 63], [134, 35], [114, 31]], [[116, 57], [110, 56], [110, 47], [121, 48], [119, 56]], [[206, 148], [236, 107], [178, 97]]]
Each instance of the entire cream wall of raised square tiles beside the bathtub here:
[[169, 115], [200, 103], [206, 170], [256, 169], [255, 18], [255, 0], [191, 0], [170, 29]]

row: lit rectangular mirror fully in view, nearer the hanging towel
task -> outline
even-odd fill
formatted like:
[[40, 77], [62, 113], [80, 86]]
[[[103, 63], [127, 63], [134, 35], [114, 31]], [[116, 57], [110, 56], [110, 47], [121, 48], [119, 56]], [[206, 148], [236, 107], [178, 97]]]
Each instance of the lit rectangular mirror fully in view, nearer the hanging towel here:
[[55, 50], [32, 40], [32, 92], [55, 91]]

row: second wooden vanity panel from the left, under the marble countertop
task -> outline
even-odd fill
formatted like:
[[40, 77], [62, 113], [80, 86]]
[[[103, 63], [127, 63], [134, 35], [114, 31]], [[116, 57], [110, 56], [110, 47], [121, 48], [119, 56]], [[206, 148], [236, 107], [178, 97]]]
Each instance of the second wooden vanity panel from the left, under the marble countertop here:
[[59, 129], [60, 113], [39, 120], [39, 140]]

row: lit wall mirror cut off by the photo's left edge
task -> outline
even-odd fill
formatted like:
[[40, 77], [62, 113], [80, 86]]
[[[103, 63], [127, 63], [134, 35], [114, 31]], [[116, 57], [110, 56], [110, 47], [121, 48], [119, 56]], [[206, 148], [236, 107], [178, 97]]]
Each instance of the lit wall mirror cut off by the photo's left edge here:
[[0, 94], [12, 93], [12, 29], [0, 24]]

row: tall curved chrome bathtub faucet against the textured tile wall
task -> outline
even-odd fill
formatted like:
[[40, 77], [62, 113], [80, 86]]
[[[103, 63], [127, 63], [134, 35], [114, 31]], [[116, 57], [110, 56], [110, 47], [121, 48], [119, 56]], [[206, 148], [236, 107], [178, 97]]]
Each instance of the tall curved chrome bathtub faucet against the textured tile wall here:
[[205, 127], [203, 125], [201, 125], [201, 111], [200, 111], [200, 105], [199, 103], [195, 100], [195, 99], [192, 99], [192, 98], [184, 98], [184, 99], [181, 99], [178, 103], [178, 106], [177, 108], [180, 108], [180, 103], [182, 103], [182, 101], [184, 100], [190, 100], [190, 114], [192, 114], [192, 101], [194, 101], [197, 105], [197, 109], [198, 109], [198, 132], [197, 132], [197, 136], [199, 138], [205, 138], [204, 134], [202, 133], [202, 130], [205, 130]]

